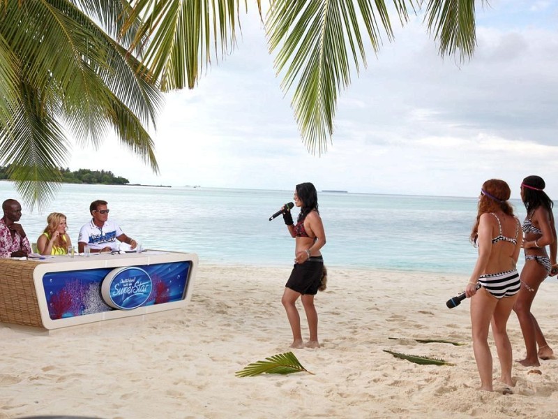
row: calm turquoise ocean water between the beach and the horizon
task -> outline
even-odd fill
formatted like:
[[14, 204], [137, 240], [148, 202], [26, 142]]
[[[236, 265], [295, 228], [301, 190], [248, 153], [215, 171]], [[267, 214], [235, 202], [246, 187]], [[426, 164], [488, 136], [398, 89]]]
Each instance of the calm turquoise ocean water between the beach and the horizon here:
[[[281, 217], [268, 221], [293, 191], [151, 186], [61, 186], [42, 214], [23, 207], [21, 223], [32, 242], [49, 212], [68, 216], [77, 242], [89, 221], [89, 204], [109, 203], [110, 218], [146, 249], [197, 253], [200, 263], [290, 265], [294, 240]], [[0, 200], [20, 199], [10, 182], [0, 182]], [[477, 198], [318, 193], [326, 229], [326, 265], [382, 270], [468, 274], [476, 249], [469, 232]], [[525, 208], [512, 201], [520, 219]], [[293, 210], [294, 217], [298, 214]], [[522, 265], [520, 256], [519, 266]]]

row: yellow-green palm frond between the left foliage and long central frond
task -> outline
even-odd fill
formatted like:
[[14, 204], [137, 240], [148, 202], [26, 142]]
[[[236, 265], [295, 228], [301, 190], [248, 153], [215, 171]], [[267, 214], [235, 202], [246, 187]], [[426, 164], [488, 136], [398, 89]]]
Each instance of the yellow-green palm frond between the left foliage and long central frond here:
[[[232, 52], [241, 0], [137, 0], [130, 22], [141, 19], [134, 47], [143, 51], [150, 77], [163, 91], [193, 89], [212, 57]], [[261, 0], [256, 0], [261, 10]], [[246, 0], [245, 8], [248, 7]], [[124, 27], [126, 30], [126, 25]], [[149, 38], [149, 44], [144, 40]]]

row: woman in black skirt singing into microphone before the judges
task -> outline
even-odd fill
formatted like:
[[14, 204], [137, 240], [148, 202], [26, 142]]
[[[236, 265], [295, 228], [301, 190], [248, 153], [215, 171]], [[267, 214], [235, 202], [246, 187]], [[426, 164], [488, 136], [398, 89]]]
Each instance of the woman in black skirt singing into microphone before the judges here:
[[[292, 330], [292, 348], [319, 348], [318, 314], [314, 307], [314, 296], [323, 290], [324, 260], [320, 249], [326, 244], [326, 233], [318, 212], [318, 195], [311, 183], [296, 185], [294, 204], [301, 208], [296, 225], [289, 210], [283, 207], [283, 219], [291, 237], [295, 238], [294, 267], [285, 284], [281, 302], [287, 311]], [[308, 320], [310, 340], [303, 343], [301, 319], [296, 309], [296, 300], [301, 297]]]

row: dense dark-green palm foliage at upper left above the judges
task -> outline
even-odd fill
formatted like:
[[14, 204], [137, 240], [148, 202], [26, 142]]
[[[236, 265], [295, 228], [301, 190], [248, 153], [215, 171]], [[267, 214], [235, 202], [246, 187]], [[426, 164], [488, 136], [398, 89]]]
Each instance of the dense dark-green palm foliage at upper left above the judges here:
[[[155, 172], [146, 126], [161, 103], [129, 52], [133, 31], [115, 41], [129, 5], [119, 0], [0, 2], [0, 164], [28, 205], [56, 191], [69, 131], [99, 147], [112, 129]], [[100, 25], [105, 24], [104, 30]], [[132, 36], [134, 35], [134, 36]]]

